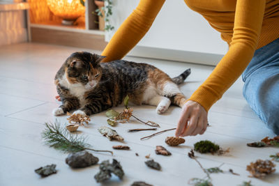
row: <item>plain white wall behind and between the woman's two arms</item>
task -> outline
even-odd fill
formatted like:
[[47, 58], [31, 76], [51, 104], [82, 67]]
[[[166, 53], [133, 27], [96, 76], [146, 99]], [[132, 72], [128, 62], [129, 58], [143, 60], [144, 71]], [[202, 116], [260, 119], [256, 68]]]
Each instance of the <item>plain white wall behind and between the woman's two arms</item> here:
[[[119, 28], [139, 2], [114, 0], [111, 24]], [[107, 41], [113, 33], [106, 33]], [[183, 0], [166, 0], [149, 32], [129, 54], [215, 65], [226, 51], [227, 44], [220, 39], [220, 33], [201, 15], [190, 10]]]

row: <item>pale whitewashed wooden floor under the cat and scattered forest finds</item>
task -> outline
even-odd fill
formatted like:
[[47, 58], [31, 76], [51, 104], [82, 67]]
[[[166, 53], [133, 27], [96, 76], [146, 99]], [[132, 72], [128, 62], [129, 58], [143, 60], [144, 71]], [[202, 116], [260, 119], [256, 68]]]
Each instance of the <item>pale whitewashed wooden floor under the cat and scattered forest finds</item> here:
[[[45, 122], [57, 119], [63, 125], [67, 116], [54, 117], [52, 109], [59, 106], [54, 96], [54, 75], [63, 61], [72, 52], [82, 49], [56, 45], [18, 44], [0, 47], [0, 185], [98, 185], [93, 176], [98, 172], [98, 165], [86, 169], [70, 169], [65, 163], [67, 154], [45, 146], [40, 133]], [[93, 52], [93, 51], [91, 51]], [[100, 53], [100, 52], [97, 52]], [[213, 70], [206, 65], [193, 65], [153, 59], [127, 57], [130, 61], [146, 62], [167, 72], [171, 77], [179, 75], [187, 68], [192, 74], [181, 86], [181, 90], [190, 96], [195, 88]], [[279, 185], [279, 173], [276, 170], [264, 180], [249, 178], [246, 165], [257, 159], [270, 160], [269, 155], [278, 153], [278, 148], [250, 148], [252, 141], [275, 134], [255, 116], [242, 96], [243, 82], [239, 79], [209, 111], [211, 127], [202, 136], [185, 137], [186, 143], [179, 147], [165, 144], [167, 136], [174, 136], [174, 131], [166, 132], [148, 140], [140, 138], [152, 134], [152, 131], [128, 133], [128, 129], [146, 127], [135, 120], [119, 124], [116, 130], [125, 140], [123, 144], [131, 150], [113, 150], [114, 156], [107, 153], [93, 153], [100, 162], [115, 158], [121, 162], [125, 176], [122, 181], [113, 176], [103, 185], [130, 185], [143, 180], [152, 185], [188, 185], [190, 178], [204, 178], [205, 174], [198, 164], [188, 157], [193, 144], [209, 139], [222, 148], [230, 148], [229, 155], [202, 155], [196, 153], [204, 168], [220, 166], [220, 169], [234, 172], [211, 174], [213, 185], [241, 185], [243, 181], [252, 181], [252, 185]], [[123, 107], [117, 107], [121, 111]], [[181, 109], [170, 107], [163, 115], [156, 114], [156, 107], [133, 107], [135, 116], [144, 120], [160, 123], [160, 130], [176, 127]], [[80, 127], [80, 133], [88, 136], [93, 148], [112, 150], [113, 145], [122, 144], [109, 141], [98, 132], [98, 127], [107, 126], [105, 112], [91, 116], [87, 127]], [[172, 155], [156, 155], [156, 146], [165, 146]], [[138, 153], [139, 156], [136, 156]], [[161, 171], [149, 169], [145, 164], [145, 155], [159, 162]], [[47, 164], [56, 164], [58, 172], [47, 178], [40, 178], [34, 169]], [[278, 163], [277, 163], [278, 166]], [[279, 169], [279, 167], [277, 167]]]

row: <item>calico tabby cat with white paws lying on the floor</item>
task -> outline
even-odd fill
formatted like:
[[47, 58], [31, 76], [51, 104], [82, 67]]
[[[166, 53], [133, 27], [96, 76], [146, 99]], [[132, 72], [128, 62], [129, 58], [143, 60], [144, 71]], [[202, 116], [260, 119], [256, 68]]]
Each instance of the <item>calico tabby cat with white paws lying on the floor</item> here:
[[90, 116], [123, 102], [157, 106], [163, 114], [171, 103], [182, 107], [186, 97], [177, 84], [190, 75], [190, 68], [178, 77], [170, 78], [153, 65], [124, 60], [100, 63], [105, 56], [89, 52], [71, 54], [56, 73], [54, 83], [61, 106], [54, 116], [76, 110], [73, 114]]

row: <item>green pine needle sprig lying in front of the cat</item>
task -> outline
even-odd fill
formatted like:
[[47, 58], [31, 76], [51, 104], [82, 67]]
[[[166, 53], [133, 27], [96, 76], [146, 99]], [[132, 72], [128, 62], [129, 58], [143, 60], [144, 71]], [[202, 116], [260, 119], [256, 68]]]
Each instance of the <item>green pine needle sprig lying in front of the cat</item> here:
[[110, 150], [95, 150], [86, 144], [86, 137], [71, 134], [57, 121], [55, 123], [45, 123], [45, 130], [42, 132], [45, 143], [66, 153], [74, 153], [82, 150], [93, 150], [95, 152], [112, 153]]

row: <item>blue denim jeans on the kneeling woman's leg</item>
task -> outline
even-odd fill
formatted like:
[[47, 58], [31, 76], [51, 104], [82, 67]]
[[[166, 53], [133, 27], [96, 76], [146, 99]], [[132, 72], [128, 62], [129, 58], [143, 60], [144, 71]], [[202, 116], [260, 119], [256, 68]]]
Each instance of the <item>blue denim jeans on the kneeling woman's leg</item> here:
[[255, 51], [242, 79], [244, 98], [279, 135], [279, 38]]

